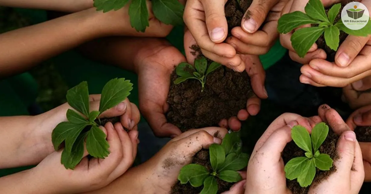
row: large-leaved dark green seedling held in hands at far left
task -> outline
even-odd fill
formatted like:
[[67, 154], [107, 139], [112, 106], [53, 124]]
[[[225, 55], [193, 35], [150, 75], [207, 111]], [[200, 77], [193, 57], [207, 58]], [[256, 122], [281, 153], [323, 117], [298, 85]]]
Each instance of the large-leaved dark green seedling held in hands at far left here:
[[[105, 158], [109, 154], [106, 134], [99, 128], [99, 115], [125, 100], [133, 84], [125, 78], [115, 78], [103, 87], [99, 111], [89, 111], [88, 83], [83, 81], [67, 91], [68, 104], [75, 110], [68, 109], [66, 122], [59, 123], [52, 132], [52, 143], [56, 151], [64, 142], [60, 162], [66, 169], [74, 169], [83, 157], [84, 143], [86, 150], [96, 158]], [[98, 118], [98, 123], [96, 119]], [[88, 127], [88, 130], [86, 128]]]

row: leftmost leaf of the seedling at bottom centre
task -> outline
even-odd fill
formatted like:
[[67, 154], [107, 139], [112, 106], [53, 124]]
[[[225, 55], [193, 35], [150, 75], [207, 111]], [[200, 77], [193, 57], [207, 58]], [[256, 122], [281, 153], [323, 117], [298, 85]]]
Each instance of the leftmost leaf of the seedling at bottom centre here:
[[188, 164], [180, 169], [178, 180], [181, 184], [186, 184], [189, 181], [193, 187], [200, 187], [209, 175], [210, 172], [203, 165]]

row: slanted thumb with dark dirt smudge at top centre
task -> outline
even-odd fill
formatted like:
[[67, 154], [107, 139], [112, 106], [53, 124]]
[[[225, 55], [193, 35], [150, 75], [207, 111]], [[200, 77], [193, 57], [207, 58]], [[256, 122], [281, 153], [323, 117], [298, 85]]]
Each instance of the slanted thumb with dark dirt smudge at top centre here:
[[265, 21], [270, 9], [278, 0], [253, 0], [242, 19], [242, 29], [248, 33], [254, 33]]

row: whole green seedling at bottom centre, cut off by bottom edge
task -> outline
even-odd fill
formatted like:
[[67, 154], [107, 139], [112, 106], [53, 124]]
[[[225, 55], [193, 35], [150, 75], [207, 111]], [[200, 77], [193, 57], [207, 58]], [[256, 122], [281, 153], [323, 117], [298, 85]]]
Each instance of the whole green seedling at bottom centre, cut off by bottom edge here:
[[226, 134], [221, 145], [211, 144], [209, 154], [213, 170], [210, 172], [200, 164], [185, 165], [178, 175], [181, 184], [189, 182], [193, 187], [204, 185], [200, 194], [216, 194], [218, 191], [216, 177], [229, 183], [242, 180], [237, 170], [247, 166], [249, 155], [241, 153], [239, 133]]

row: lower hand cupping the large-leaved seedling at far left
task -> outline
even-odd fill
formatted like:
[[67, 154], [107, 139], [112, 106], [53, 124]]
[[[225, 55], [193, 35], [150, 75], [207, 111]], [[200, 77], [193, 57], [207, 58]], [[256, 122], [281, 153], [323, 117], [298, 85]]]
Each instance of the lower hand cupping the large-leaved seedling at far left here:
[[32, 169], [33, 176], [45, 193], [81, 193], [102, 188], [121, 176], [132, 165], [137, 154], [138, 131], [127, 133], [120, 123], [105, 127], [110, 154], [105, 159], [85, 158], [74, 170], [60, 164], [62, 151], [47, 156]]

